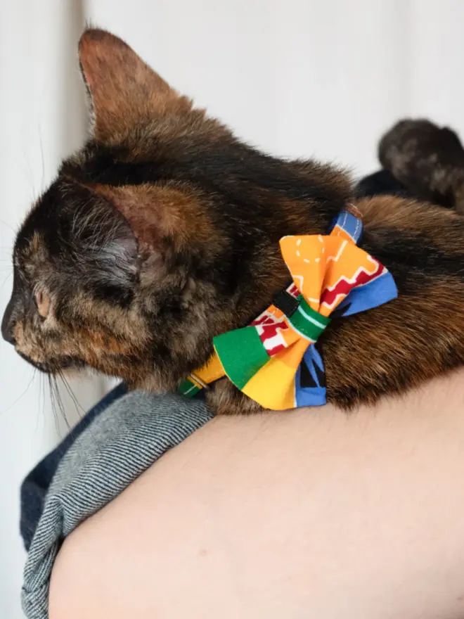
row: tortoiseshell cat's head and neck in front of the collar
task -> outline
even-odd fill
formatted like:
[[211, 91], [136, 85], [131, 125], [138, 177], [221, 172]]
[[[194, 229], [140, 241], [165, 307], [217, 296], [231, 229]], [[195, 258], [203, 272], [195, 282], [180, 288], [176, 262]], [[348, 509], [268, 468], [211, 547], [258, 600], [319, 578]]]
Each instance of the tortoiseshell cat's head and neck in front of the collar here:
[[91, 138], [20, 229], [2, 333], [44, 371], [172, 388], [286, 283], [278, 238], [303, 208], [330, 217], [348, 184], [244, 146], [108, 32], [84, 32], [79, 60]]

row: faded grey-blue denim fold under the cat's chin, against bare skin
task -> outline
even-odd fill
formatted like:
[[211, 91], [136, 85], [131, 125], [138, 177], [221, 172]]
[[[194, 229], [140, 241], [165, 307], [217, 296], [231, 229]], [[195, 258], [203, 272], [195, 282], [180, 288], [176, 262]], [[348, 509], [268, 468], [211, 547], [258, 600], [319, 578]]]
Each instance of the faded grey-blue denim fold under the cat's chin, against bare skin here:
[[211, 418], [201, 400], [132, 392], [86, 426], [56, 469], [32, 537], [22, 585], [28, 619], [48, 617], [51, 569], [64, 538]]

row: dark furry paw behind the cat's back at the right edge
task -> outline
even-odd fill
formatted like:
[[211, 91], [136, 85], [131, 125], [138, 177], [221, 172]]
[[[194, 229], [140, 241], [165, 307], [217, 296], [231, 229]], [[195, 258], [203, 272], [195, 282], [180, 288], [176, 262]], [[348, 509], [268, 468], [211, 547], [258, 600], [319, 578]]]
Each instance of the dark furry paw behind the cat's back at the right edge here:
[[455, 132], [429, 120], [401, 120], [380, 140], [379, 159], [421, 198], [452, 206], [464, 174], [464, 148]]

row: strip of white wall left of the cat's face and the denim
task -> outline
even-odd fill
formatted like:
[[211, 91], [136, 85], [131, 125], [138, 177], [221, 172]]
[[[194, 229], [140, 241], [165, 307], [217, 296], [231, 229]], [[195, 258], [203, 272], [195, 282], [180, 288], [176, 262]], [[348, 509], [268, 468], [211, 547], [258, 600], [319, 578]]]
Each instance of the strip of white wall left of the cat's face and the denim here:
[[[0, 0], [0, 313], [11, 291], [14, 230], [56, 173], [60, 158], [84, 135], [84, 98], [76, 42], [84, 22], [68, 0]], [[13, 347], [0, 342], [0, 619], [22, 617], [24, 554], [19, 486], [28, 469], [66, 431], [56, 423], [44, 376], [34, 375]], [[98, 383], [74, 385], [83, 407]], [[69, 398], [67, 399], [69, 400]], [[75, 407], [67, 407], [70, 422]], [[56, 427], [58, 426], [58, 428]]]

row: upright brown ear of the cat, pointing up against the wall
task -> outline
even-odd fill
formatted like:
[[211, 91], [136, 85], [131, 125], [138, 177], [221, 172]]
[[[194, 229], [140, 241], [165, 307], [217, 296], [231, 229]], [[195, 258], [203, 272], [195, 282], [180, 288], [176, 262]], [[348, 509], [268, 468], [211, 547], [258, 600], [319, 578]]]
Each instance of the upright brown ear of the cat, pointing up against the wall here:
[[98, 141], [120, 141], [170, 106], [191, 105], [122, 39], [105, 30], [92, 28], [82, 34], [79, 62]]

